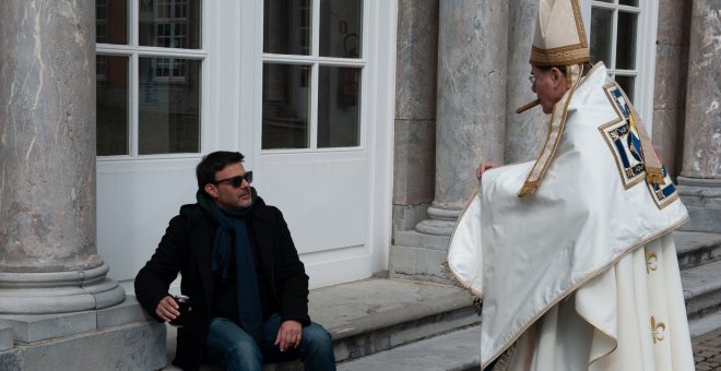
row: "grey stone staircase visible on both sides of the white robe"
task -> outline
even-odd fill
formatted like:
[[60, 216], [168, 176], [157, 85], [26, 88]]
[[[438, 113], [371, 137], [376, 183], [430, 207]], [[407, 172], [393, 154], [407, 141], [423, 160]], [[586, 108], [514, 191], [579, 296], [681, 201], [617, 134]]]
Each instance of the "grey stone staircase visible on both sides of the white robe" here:
[[[701, 336], [721, 328], [721, 235], [677, 231], [674, 237], [692, 336]], [[456, 286], [370, 278], [324, 287], [311, 291], [310, 315], [332, 334], [339, 370], [480, 367], [481, 318], [469, 294]]]

